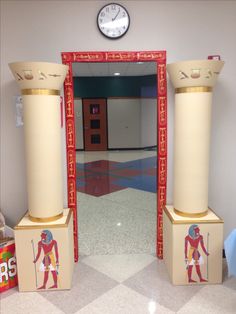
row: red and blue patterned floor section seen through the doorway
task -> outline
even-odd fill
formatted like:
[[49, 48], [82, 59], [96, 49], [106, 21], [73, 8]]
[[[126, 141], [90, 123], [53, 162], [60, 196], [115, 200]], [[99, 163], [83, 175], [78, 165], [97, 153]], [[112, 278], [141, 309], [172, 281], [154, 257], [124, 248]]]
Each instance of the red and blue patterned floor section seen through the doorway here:
[[156, 192], [156, 156], [126, 162], [77, 163], [77, 190], [102, 196], [126, 188]]

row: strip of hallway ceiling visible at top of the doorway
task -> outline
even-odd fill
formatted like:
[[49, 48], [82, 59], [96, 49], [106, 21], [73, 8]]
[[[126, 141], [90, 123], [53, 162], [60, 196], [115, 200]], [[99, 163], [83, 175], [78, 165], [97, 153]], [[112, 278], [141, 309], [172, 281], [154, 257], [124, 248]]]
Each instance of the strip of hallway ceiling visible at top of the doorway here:
[[156, 74], [156, 62], [100, 62], [100, 63], [81, 63], [72, 64], [73, 76], [143, 76]]

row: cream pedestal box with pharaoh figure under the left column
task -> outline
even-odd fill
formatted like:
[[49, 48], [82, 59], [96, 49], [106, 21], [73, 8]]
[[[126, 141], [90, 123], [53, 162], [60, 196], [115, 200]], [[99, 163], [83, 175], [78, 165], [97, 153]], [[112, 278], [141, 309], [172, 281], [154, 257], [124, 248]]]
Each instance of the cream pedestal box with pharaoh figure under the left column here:
[[25, 215], [15, 229], [19, 291], [71, 288], [74, 267], [73, 217], [64, 209], [56, 221], [33, 222]]

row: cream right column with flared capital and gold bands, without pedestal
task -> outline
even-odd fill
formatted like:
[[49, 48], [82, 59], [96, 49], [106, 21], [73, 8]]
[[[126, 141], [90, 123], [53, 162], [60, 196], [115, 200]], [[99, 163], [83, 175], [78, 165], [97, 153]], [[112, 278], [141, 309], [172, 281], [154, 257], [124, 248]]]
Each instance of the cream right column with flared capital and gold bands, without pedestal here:
[[167, 66], [175, 87], [174, 209], [182, 216], [208, 211], [212, 88], [223, 65], [194, 60]]

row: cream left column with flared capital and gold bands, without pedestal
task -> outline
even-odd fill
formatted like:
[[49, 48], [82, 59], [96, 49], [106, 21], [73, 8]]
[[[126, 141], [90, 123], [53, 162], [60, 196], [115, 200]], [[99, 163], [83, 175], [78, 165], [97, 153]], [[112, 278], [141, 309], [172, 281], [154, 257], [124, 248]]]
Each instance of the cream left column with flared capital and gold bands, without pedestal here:
[[46, 62], [9, 64], [22, 93], [29, 217], [63, 214], [60, 89], [68, 67]]

